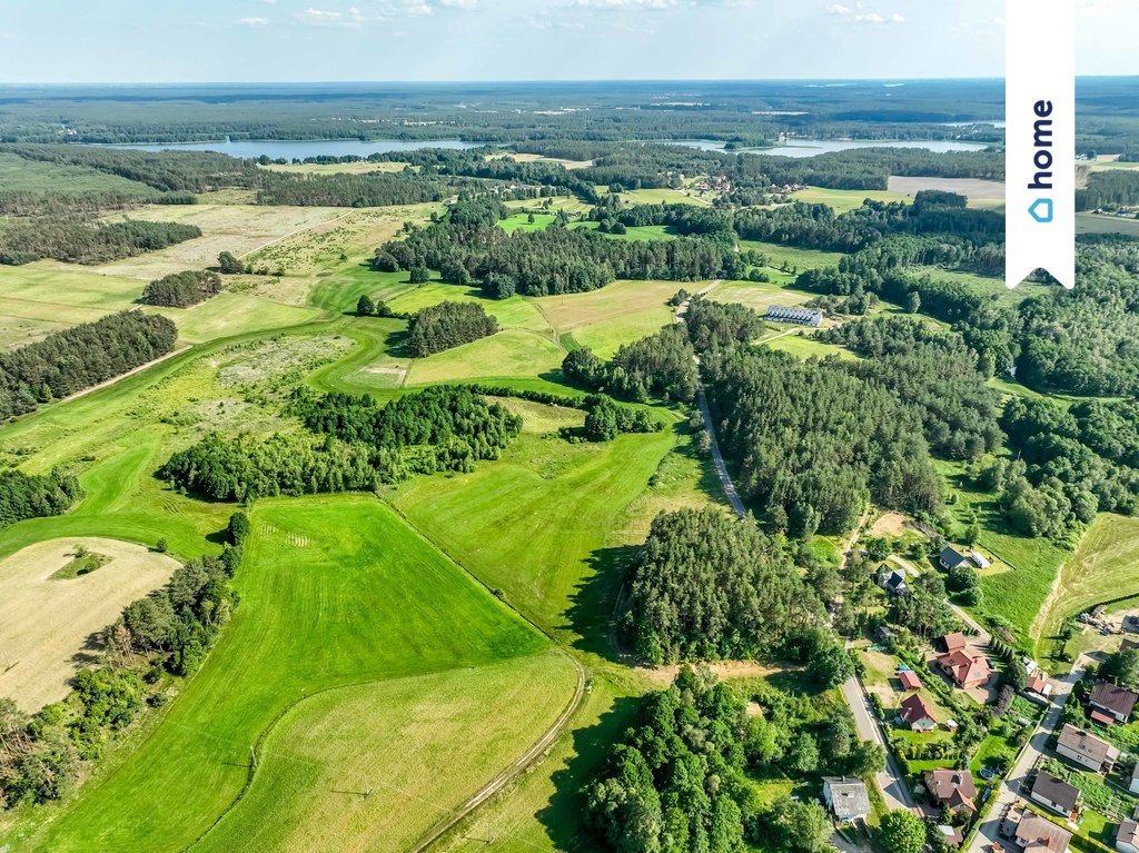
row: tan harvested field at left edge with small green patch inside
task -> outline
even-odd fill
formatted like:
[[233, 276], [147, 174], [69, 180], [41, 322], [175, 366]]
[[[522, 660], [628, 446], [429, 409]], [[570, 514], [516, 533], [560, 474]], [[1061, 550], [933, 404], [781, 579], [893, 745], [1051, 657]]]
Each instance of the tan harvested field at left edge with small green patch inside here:
[[[76, 546], [109, 560], [79, 577], [52, 577]], [[27, 712], [63, 699], [72, 675], [99, 657], [91, 634], [177, 567], [141, 546], [93, 538], [38, 542], [0, 561], [0, 696]]]

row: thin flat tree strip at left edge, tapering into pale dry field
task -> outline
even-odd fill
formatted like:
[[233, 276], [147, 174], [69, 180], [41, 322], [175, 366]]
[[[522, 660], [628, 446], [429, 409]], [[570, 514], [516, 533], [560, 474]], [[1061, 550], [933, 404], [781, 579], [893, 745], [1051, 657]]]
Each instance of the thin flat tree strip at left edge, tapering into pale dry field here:
[[0, 222], [0, 263], [19, 265], [41, 257], [106, 263], [200, 236], [197, 225], [181, 222], [107, 223], [77, 215], [10, 218]]

